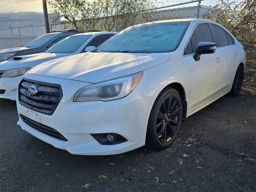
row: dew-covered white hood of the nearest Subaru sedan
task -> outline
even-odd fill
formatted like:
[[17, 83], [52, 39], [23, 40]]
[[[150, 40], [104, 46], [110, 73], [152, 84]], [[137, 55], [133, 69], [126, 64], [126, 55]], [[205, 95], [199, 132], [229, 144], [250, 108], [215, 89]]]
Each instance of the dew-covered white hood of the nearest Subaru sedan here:
[[97, 83], [162, 64], [170, 53], [87, 52], [46, 62], [28, 73]]

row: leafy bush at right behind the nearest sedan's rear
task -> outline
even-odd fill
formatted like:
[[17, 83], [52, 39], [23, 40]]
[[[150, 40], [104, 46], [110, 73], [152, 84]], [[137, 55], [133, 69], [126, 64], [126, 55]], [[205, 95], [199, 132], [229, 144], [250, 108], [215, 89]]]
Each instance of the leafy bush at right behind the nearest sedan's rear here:
[[226, 27], [246, 49], [246, 81], [256, 82], [256, 1], [240, 3], [220, 0], [202, 18], [214, 20]]

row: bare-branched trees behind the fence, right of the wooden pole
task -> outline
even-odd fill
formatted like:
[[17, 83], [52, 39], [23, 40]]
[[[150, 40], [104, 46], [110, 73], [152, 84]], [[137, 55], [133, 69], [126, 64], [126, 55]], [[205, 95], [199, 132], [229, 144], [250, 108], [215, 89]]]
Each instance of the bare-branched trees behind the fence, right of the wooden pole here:
[[48, 4], [52, 12], [72, 22], [76, 29], [89, 27], [106, 31], [129, 26], [130, 12], [154, 7], [148, 0], [50, 0]]

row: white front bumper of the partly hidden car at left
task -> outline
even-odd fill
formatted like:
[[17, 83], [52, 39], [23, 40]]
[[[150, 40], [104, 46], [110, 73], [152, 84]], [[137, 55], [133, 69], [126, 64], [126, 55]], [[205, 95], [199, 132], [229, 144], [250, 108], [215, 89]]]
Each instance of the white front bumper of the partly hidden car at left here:
[[23, 75], [9, 78], [0, 78], [0, 90], [5, 90], [4, 94], [0, 93], [0, 98], [16, 100], [18, 83], [22, 79]]

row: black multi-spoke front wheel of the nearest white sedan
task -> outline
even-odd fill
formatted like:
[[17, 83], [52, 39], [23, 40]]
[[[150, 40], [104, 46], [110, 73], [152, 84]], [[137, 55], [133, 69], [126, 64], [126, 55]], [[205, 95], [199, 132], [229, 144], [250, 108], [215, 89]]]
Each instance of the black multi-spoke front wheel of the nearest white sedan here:
[[157, 150], [168, 148], [180, 132], [182, 114], [178, 91], [169, 87], [162, 90], [150, 112], [146, 145]]

